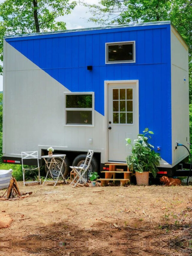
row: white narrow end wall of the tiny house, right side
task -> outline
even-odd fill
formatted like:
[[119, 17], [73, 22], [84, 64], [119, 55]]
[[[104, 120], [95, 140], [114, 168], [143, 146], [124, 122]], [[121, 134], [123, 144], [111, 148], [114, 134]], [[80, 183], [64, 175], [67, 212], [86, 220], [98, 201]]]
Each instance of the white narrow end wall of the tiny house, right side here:
[[[184, 81], [184, 77], [186, 81]], [[176, 142], [189, 142], [189, 71], [188, 47], [171, 27], [171, 109], [172, 109], [172, 162], [182, 161], [188, 153], [184, 147], [175, 149]], [[186, 141], [187, 140], [187, 141]]]

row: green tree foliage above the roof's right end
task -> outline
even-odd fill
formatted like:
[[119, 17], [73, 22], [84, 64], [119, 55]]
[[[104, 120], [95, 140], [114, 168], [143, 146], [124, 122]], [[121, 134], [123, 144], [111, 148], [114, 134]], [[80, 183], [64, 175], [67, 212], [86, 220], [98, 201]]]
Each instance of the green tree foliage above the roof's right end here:
[[192, 103], [192, 1], [101, 0], [89, 5], [90, 21], [102, 25], [171, 20], [189, 46], [189, 101]]

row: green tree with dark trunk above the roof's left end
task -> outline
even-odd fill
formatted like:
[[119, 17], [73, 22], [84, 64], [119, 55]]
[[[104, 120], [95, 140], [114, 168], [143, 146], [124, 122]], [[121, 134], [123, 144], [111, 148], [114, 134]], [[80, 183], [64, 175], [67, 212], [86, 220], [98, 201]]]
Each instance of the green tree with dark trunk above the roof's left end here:
[[76, 2], [70, 0], [5, 0], [0, 4], [1, 61], [4, 35], [64, 30], [66, 23], [56, 19], [70, 14], [75, 6]]

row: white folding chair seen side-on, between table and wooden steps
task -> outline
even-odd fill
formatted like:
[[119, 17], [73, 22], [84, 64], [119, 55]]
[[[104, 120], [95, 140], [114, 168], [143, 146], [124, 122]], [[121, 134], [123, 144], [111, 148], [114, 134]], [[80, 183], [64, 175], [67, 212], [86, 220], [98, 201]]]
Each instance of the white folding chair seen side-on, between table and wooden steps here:
[[[79, 183], [79, 181], [82, 181], [84, 184], [86, 184], [86, 180], [84, 179], [83, 176], [86, 173], [86, 171], [88, 171], [88, 168], [91, 164], [91, 160], [92, 160], [92, 157], [93, 157], [93, 153], [94, 153], [93, 150], [88, 150], [87, 156], [85, 158], [85, 162], [84, 162], [82, 167], [80, 167], [80, 166], [70, 166], [70, 168], [72, 168], [72, 170], [76, 174], [75, 178], [73, 179], [73, 181], [70, 184], [70, 185], [72, 185], [74, 183], [73, 187], [76, 187], [76, 185]], [[87, 175], [88, 175], [88, 173], [87, 173]], [[76, 179], [77, 179], [77, 181], [75, 183]]]

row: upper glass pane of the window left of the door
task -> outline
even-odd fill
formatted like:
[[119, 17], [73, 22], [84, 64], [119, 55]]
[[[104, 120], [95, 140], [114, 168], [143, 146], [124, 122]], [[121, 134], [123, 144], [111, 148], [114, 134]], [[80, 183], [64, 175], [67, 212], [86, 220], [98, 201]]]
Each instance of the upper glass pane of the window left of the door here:
[[92, 108], [91, 94], [66, 95], [66, 108]]

